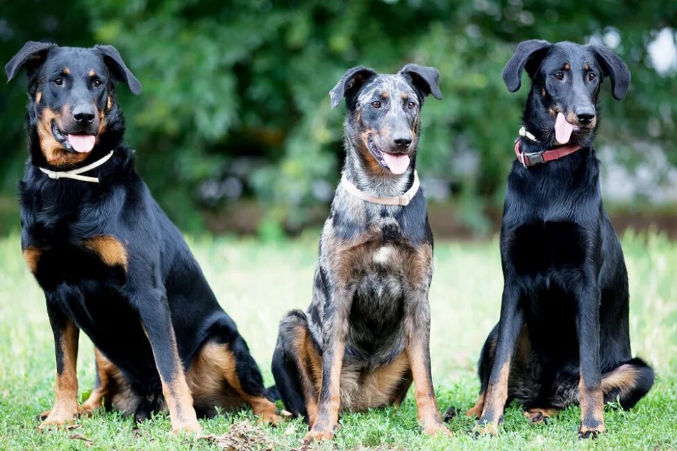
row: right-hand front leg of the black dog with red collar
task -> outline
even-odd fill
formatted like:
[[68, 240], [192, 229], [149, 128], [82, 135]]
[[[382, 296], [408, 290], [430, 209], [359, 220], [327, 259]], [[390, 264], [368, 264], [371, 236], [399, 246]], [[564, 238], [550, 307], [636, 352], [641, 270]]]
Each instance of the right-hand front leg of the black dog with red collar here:
[[[585, 284], [584, 284], [585, 285]], [[604, 425], [604, 400], [599, 367], [599, 301], [596, 287], [584, 287], [577, 293], [576, 333], [580, 356], [578, 402], [580, 403], [580, 429], [582, 439], [595, 438], [606, 431]]]

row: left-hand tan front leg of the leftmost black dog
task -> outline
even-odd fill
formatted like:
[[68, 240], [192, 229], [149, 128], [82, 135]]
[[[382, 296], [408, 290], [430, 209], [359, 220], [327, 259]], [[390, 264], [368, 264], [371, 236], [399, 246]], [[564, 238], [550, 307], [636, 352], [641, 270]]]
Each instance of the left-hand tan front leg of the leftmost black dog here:
[[73, 423], [73, 419], [80, 413], [76, 370], [80, 330], [49, 296], [47, 296], [47, 314], [54, 334], [56, 389], [54, 405], [49, 413], [43, 413], [47, 414], [47, 418], [40, 423], [39, 429]]

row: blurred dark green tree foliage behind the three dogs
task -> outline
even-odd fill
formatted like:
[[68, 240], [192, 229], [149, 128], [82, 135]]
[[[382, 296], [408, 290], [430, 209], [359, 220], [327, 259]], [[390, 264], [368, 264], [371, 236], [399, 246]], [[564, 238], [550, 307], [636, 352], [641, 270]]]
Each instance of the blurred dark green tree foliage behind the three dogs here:
[[[501, 211], [526, 99], [524, 87], [508, 93], [501, 69], [535, 37], [608, 44], [624, 58], [633, 85], [623, 102], [603, 87], [598, 147], [626, 168], [620, 188], [638, 180], [621, 198], [629, 211], [671, 203], [676, 24], [674, 0], [0, 0], [0, 60], [26, 40], [117, 46], [144, 87], [118, 89], [127, 142], [165, 211], [187, 232], [267, 237], [326, 215], [344, 155], [344, 107], [331, 110], [327, 94], [344, 71], [435, 66], [444, 101], [424, 108], [419, 171], [431, 209], [482, 235]], [[21, 78], [0, 88], [0, 232], [18, 228], [24, 88]]]

